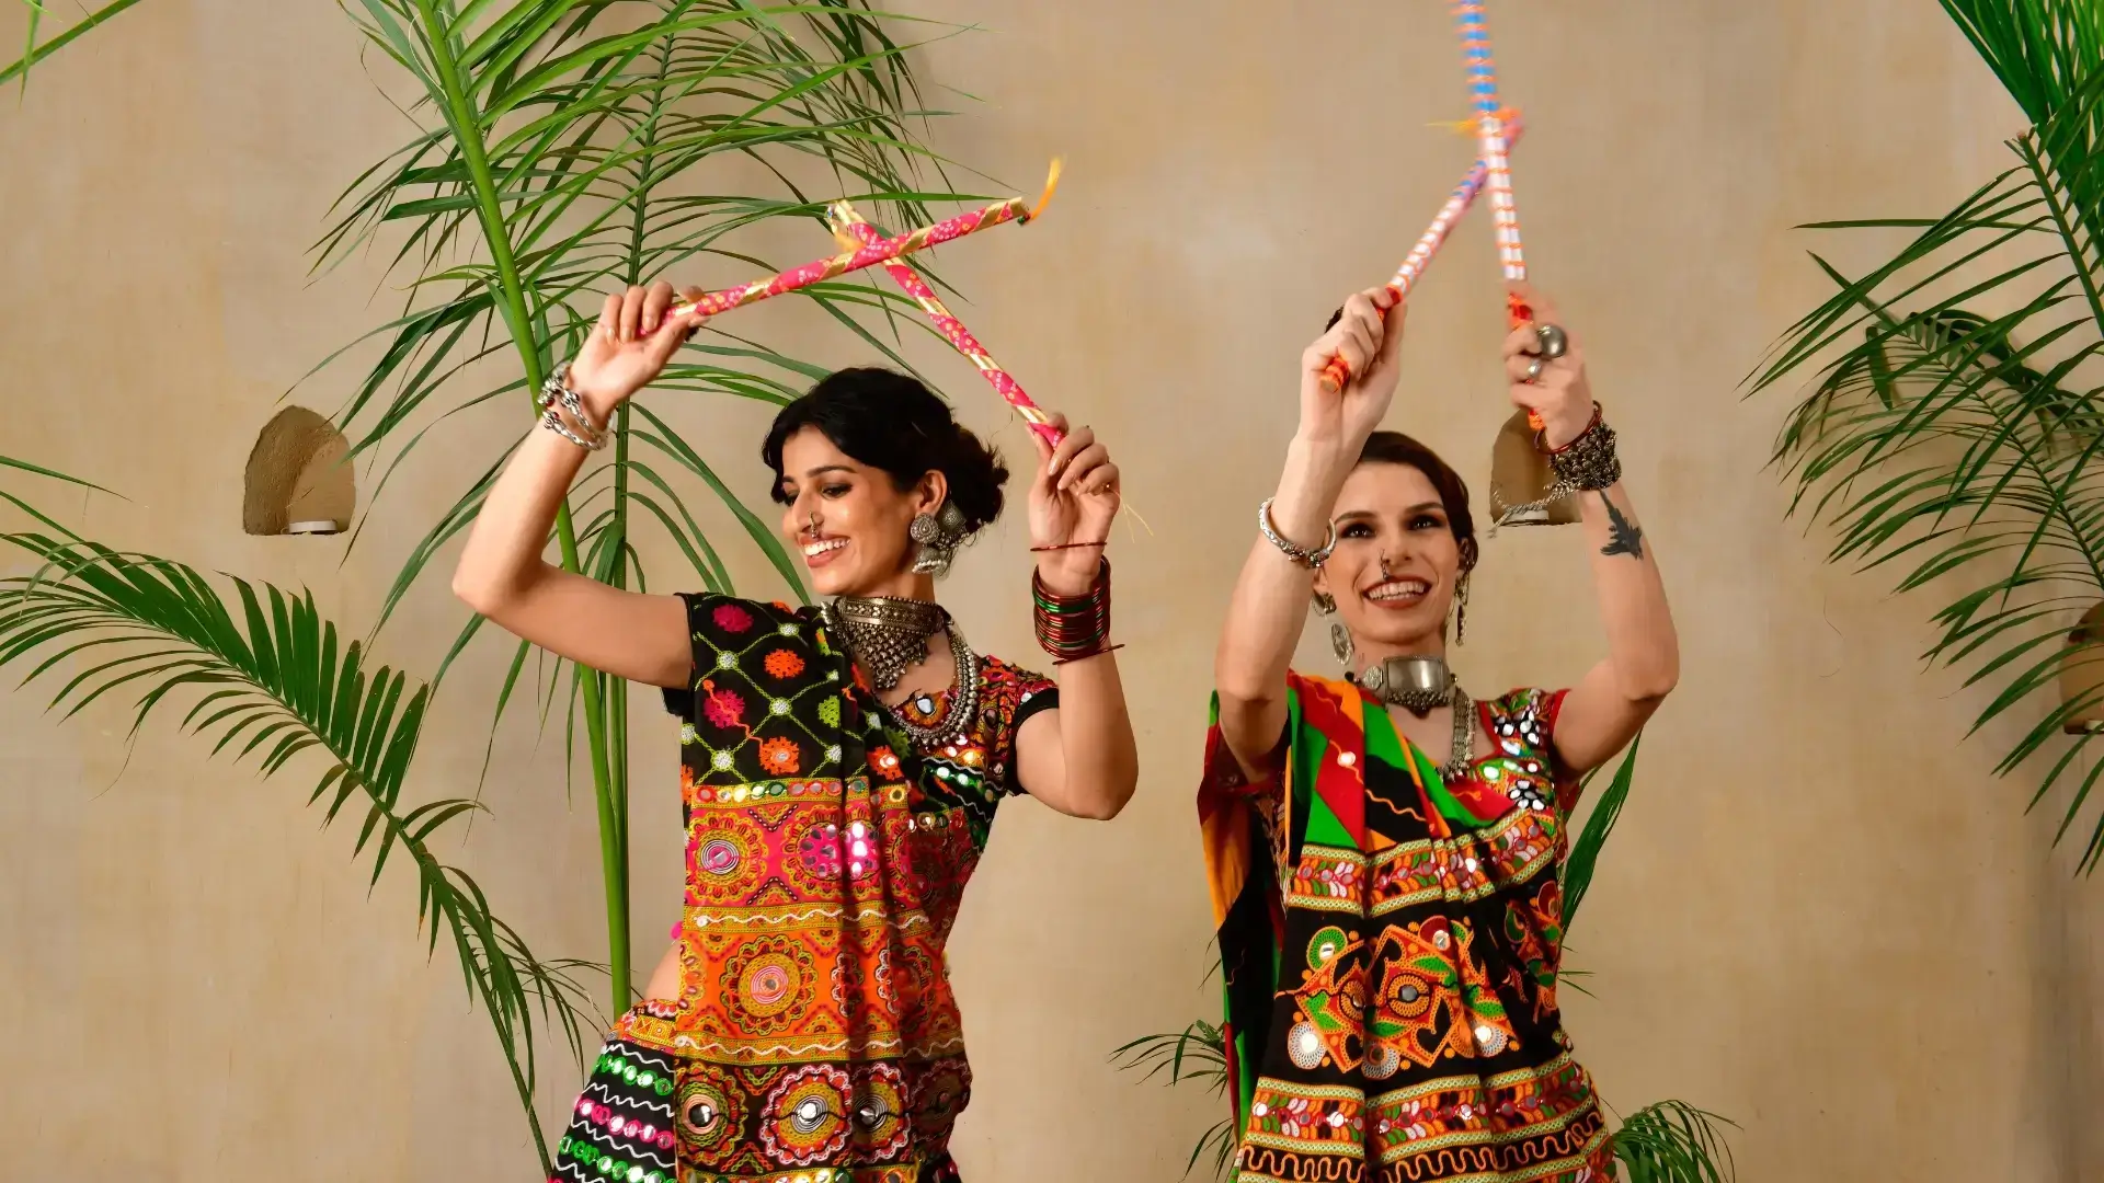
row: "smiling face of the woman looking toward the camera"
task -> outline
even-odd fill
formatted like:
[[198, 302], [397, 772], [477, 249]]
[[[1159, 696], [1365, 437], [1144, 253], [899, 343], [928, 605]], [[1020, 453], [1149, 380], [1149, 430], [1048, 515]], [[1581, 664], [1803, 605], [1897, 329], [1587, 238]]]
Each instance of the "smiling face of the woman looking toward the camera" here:
[[1412, 465], [1361, 463], [1330, 520], [1336, 549], [1315, 573], [1315, 592], [1336, 598], [1357, 661], [1445, 657], [1448, 606], [1464, 568], [1431, 478]]

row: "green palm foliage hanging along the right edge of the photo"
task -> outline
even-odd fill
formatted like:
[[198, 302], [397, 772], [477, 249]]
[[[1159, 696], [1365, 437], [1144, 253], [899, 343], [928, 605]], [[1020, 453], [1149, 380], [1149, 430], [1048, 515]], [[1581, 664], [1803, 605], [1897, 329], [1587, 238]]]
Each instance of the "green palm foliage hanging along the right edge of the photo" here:
[[[1862, 276], [1814, 255], [1837, 290], [1753, 389], [1814, 377], [1776, 442], [1793, 514], [1835, 530], [1835, 562], [1938, 596], [1925, 659], [1990, 690], [1974, 730], [2018, 720], [1997, 773], [2043, 758], [2032, 804], [2064, 789], [2068, 834], [2104, 777], [2081, 724], [2098, 703], [2054, 697], [2093, 659], [2068, 627], [2104, 600], [2104, 42], [2087, 4], [1944, 6], [2037, 124], [1944, 217], [1824, 223], [1915, 234]], [[2077, 865], [2100, 859], [2104, 810]]]

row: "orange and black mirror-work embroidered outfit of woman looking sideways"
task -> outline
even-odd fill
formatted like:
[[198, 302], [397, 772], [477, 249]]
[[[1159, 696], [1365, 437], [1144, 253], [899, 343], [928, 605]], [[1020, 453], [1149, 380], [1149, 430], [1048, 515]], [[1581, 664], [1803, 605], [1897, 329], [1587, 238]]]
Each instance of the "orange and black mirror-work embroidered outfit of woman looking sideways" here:
[[957, 1183], [943, 945], [1056, 688], [983, 657], [978, 716], [922, 751], [814, 610], [696, 596], [688, 623], [680, 998], [619, 1021], [555, 1179]]

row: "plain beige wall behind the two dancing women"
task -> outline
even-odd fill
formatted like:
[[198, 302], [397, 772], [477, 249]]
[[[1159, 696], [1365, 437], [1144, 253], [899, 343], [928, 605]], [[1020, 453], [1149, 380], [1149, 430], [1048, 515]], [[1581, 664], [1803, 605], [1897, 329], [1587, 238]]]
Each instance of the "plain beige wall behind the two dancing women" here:
[[[1044, 223], [945, 267], [978, 335], [1117, 448], [1153, 526], [1115, 552], [1142, 794], [1113, 825], [1012, 806], [953, 943], [978, 1067], [959, 1158], [974, 1183], [1166, 1181], [1216, 1107], [1105, 1052], [1216, 1012], [1191, 810], [1214, 629], [1292, 429], [1298, 349], [1466, 164], [1424, 126], [1460, 114], [1458, 69], [1429, 0], [909, 8], [989, 27], [919, 57], [985, 99], [934, 93], [968, 112], [940, 147], [1014, 187], [1069, 160]], [[1624, 1109], [1685, 1097], [1738, 1120], [1755, 1181], [2104, 1175], [2104, 886], [2068, 882], [2049, 819], [1990, 777], [2007, 726], [1959, 743], [1984, 699], [1921, 671], [1927, 602], [1828, 568], [1826, 537], [1782, 522], [1761, 472], [1782, 400], [1736, 396], [1822, 295], [1788, 227], [1944, 208], [2001, 166], [2011, 105], [1929, 0], [1515, 0], [1498, 32], [1530, 116], [1536, 276], [1586, 335], [1685, 650], [1572, 941], [1597, 994], [1570, 1000], [1580, 1050]], [[370, 265], [309, 282], [303, 257], [326, 202], [404, 135], [366, 69], [387, 63], [360, 61], [330, 4], [154, 0], [0, 112], [0, 453], [126, 493], [46, 497], [95, 537], [307, 583], [353, 631], [461, 480], [448, 459], [482, 463], [513, 429], [467, 423], [412, 463], [349, 562], [341, 539], [240, 533], [274, 400], [391, 307]], [[806, 356], [867, 356], [802, 305], [741, 316]], [[1500, 328], [1471, 221], [1412, 314], [1391, 421], [1479, 488]], [[919, 356], [1029, 453], [962, 362]], [[299, 398], [326, 413], [349, 381]], [[764, 415], [680, 419], [757, 501]], [[1031, 653], [1025, 568], [1018, 522], [959, 564], [947, 598], [985, 648]], [[1490, 543], [1458, 655], [1473, 686], [1561, 682], [1599, 655], [1591, 596], [1567, 594], [1580, 573], [1570, 530]], [[381, 657], [429, 671], [457, 623], [431, 581]], [[1304, 657], [1321, 650], [1311, 629]], [[478, 648], [448, 684], [412, 791], [471, 791], [499, 661]], [[126, 749], [120, 711], [59, 724], [38, 703], [0, 695], [0, 1177], [530, 1175], [486, 1025], [446, 954], [425, 960], [404, 878], [368, 895], [295, 777], [208, 762], [168, 720]], [[541, 954], [602, 956], [589, 796], [566, 798], [560, 737], [534, 743], [507, 726], [494, 819], [457, 857]], [[677, 899], [661, 716], [640, 749], [650, 935]], [[553, 1122], [574, 1086], [547, 1065]]]

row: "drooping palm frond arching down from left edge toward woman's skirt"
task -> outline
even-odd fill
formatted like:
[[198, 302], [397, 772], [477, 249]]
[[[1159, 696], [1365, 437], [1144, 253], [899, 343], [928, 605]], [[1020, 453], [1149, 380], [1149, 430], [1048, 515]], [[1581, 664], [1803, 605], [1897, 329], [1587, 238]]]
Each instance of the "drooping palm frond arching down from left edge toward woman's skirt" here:
[[482, 1002], [503, 1046], [545, 1168], [547, 1141], [532, 1114], [537, 1023], [558, 1025], [579, 1059], [598, 1023], [581, 1010], [572, 977], [581, 964], [534, 958], [476, 880], [433, 855], [433, 838], [478, 806], [404, 800], [429, 688], [368, 665], [358, 642], [341, 644], [311, 596], [236, 579], [223, 598], [189, 566], [78, 537], [13, 533], [0, 543], [42, 562], [36, 575], [0, 579], [0, 667], [27, 667], [23, 684], [76, 669], [50, 709], [69, 718], [105, 695], [130, 695], [137, 735], [183, 697], [185, 730], [210, 739], [213, 751], [255, 758], [265, 775], [299, 756], [322, 758], [309, 802], [322, 806], [324, 823], [358, 821], [353, 850], [370, 863], [372, 882], [396, 857], [414, 871], [419, 928], [431, 951], [440, 937], [450, 941], [469, 998]]

